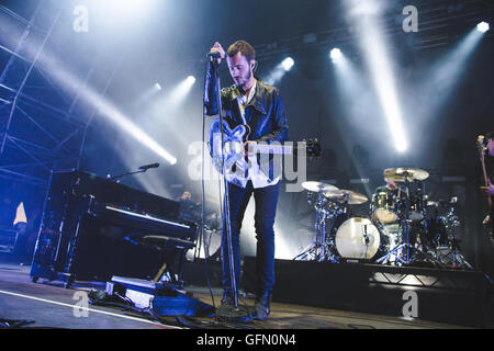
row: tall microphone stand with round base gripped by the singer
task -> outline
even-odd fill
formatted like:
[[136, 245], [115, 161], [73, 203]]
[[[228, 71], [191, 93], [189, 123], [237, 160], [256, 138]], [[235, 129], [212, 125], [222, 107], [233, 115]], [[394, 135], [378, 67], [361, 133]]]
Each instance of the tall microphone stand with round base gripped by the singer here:
[[[221, 129], [221, 138], [222, 138], [222, 178], [225, 186], [225, 208], [223, 211], [224, 223], [226, 223], [226, 241], [228, 247], [228, 265], [229, 265], [229, 280], [232, 284], [232, 293], [234, 297], [234, 306], [222, 305], [216, 312], [216, 316], [218, 319], [229, 322], [246, 322], [250, 320], [250, 314], [247, 308], [238, 307], [238, 292], [237, 292], [237, 282], [235, 275], [235, 267], [234, 267], [234, 256], [233, 256], [233, 244], [232, 244], [232, 224], [229, 217], [229, 194], [228, 194], [228, 181], [225, 177], [225, 138], [224, 138], [224, 128], [223, 128], [223, 114], [222, 114], [222, 93], [221, 93], [221, 81], [220, 81], [220, 64], [216, 59], [212, 59], [213, 69], [216, 70], [216, 94], [217, 94], [217, 107], [218, 107], [218, 117], [220, 117], [220, 129]], [[226, 259], [225, 257], [223, 258]]]

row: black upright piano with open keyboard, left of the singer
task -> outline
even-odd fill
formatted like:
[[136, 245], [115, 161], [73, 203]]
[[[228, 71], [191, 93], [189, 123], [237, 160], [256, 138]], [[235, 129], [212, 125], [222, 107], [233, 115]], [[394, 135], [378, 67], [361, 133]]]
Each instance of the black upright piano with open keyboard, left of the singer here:
[[31, 279], [68, 287], [113, 275], [156, 279], [164, 267], [180, 279], [195, 238], [176, 201], [78, 170], [53, 172]]

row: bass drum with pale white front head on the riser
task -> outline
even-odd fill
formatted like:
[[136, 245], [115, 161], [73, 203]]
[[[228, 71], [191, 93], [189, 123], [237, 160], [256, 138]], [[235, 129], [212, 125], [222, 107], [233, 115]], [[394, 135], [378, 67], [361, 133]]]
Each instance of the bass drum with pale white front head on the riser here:
[[372, 259], [381, 245], [378, 228], [368, 218], [345, 220], [336, 233], [336, 249], [346, 259]]

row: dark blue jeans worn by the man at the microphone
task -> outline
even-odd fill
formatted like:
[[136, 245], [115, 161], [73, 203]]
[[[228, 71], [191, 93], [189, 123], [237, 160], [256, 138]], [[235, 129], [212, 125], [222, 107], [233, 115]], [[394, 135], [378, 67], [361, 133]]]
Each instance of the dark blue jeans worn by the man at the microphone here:
[[[245, 189], [228, 183], [229, 216], [232, 225], [232, 249], [235, 282], [238, 291], [240, 278], [240, 228], [245, 210], [254, 193], [256, 214], [254, 217], [257, 251], [257, 294], [271, 292], [274, 286], [274, 216], [277, 213], [280, 183], [260, 189], [254, 189], [249, 181]], [[226, 223], [223, 223], [222, 257], [223, 257], [223, 290], [233, 295]]]

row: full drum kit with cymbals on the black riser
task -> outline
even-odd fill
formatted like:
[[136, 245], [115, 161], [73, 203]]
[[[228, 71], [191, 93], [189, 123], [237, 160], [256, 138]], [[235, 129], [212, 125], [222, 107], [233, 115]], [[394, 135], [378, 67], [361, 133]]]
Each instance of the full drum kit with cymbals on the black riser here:
[[[425, 170], [391, 168], [383, 176], [395, 188], [378, 189], [369, 218], [353, 216], [351, 208], [366, 204], [366, 195], [323, 182], [304, 182], [307, 202], [316, 213], [315, 239], [294, 260], [471, 269], [460, 253], [457, 199], [428, 201], [423, 182], [429, 173]], [[434, 215], [428, 218], [430, 208]], [[441, 215], [444, 208], [449, 212]]]

